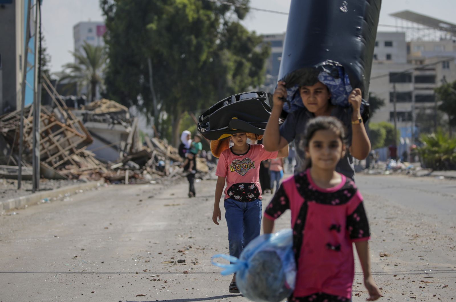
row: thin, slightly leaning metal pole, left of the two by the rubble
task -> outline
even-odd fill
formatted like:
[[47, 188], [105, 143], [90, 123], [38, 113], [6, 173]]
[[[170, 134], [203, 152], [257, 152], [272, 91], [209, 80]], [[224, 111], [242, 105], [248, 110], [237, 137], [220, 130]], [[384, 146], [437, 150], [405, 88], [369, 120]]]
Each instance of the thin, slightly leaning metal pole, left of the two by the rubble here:
[[24, 104], [26, 102], [26, 81], [27, 81], [27, 65], [28, 65], [28, 43], [30, 42], [30, 10], [31, 0], [28, 0], [27, 6], [27, 23], [26, 23], [26, 45], [24, 47], [24, 65], [22, 66], [22, 95], [21, 95], [21, 120], [19, 126], [19, 158], [18, 158], [18, 171], [17, 171], [17, 189], [21, 188], [22, 179], [22, 148], [24, 139]]

